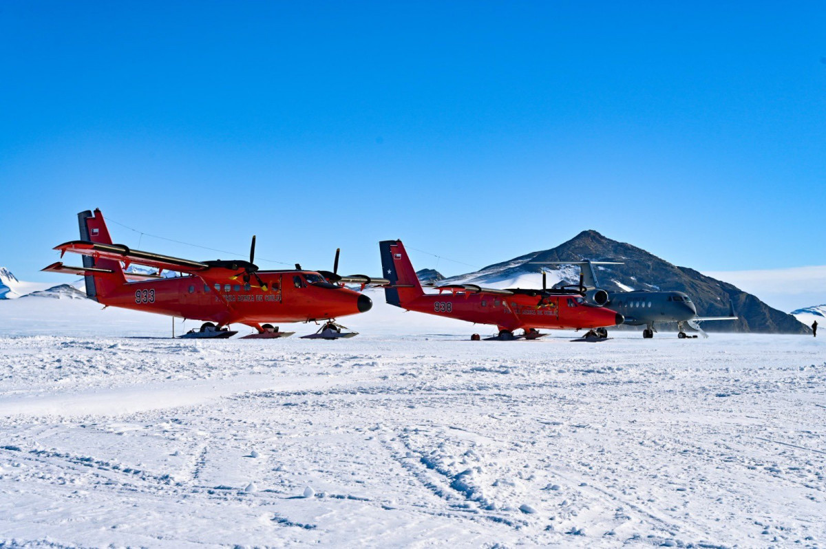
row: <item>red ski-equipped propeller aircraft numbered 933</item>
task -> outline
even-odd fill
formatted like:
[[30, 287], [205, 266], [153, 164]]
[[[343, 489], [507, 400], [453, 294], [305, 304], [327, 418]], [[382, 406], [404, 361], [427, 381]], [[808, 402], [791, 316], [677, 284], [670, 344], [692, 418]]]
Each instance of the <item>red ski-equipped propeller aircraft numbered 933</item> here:
[[[370, 310], [368, 296], [344, 287], [344, 283], [387, 284], [368, 277], [339, 277], [339, 251], [333, 272], [295, 270], [259, 271], [254, 263], [255, 237], [249, 262], [190, 261], [157, 253], [141, 252], [123, 244], [112, 244], [100, 210], [78, 214], [80, 240], [60, 244], [60, 257], [66, 252], [83, 255], [83, 267], [53, 263], [44, 271], [66, 272], [86, 277], [86, 293], [107, 306], [143, 310], [184, 319], [206, 320], [200, 330], [182, 337], [228, 338], [237, 332], [227, 324], [246, 324], [258, 331], [247, 338], [278, 338], [292, 333], [279, 332], [271, 323], [325, 320], [307, 338], [352, 337], [342, 333], [335, 319]], [[158, 269], [157, 275], [125, 272], [131, 264]], [[181, 272], [182, 277], [164, 278], [163, 271]], [[215, 324], [212, 324], [215, 323]]]

